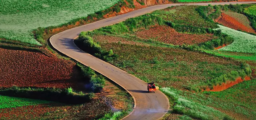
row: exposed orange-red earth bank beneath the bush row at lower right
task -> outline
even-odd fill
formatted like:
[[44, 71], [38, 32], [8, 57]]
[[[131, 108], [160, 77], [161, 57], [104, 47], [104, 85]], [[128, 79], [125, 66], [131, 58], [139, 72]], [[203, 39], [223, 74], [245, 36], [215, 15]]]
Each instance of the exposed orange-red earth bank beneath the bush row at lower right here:
[[219, 92], [219, 91], [223, 91], [223, 90], [226, 90], [238, 83], [241, 83], [243, 81], [246, 81], [246, 80], [251, 80], [251, 78], [249, 76], [245, 76], [244, 79], [242, 79], [241, 77], [238, 77], [236, 78], [235, 81], [227, 81], [226, 83], [222, 83], [221, 85], [216, 85], [216, 86], [213, 86], [213, 89], [211, 90], [210, 88], [207, 88], [203, 91], [212, 91], [212, 92]]

